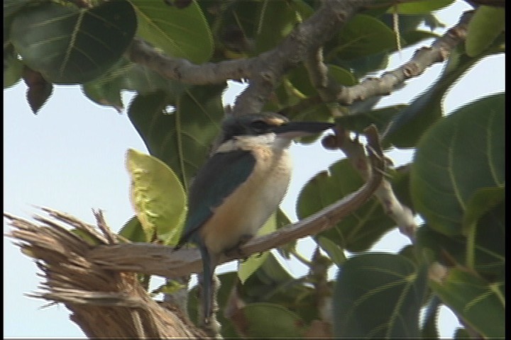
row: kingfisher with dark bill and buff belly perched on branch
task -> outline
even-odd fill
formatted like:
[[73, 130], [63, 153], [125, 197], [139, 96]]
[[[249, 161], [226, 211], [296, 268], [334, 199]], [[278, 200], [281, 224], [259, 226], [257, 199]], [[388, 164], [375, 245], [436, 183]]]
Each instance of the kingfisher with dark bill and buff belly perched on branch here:
[[187, 242], [199, 247], [205, 324], [212, 314], [213, 275], [220, 256], [253, 237], [285, 196], [292, 140], [333, 126], [290, 122], [278, 113], [230, 115], [222, 123], [219, 147], [189, 188], [187, 219], [176, 247]]

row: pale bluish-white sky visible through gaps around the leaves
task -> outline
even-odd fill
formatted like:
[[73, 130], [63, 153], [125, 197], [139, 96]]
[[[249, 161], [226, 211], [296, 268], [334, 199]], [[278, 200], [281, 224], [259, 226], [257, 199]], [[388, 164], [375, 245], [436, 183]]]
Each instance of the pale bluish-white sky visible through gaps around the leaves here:
[[[450, 26], [463, 9], [463, 1], [439, 13]], [[428, 45], [424, 43], [422, 45]], [[392, 65], [410, 59], [413, 50], [405, 49], [392, 57]], [[391, 69], [393, 68], [390, 67]], [[382, 106], [410, 101], [434, 81], [441, 70], [436, 65], [404, 89], [383, 99]], [[446, 97], [446, 111], [452, 112], [468, 100], [505, 89], [505, 58], [490, 57], [468, 72]], [[226, 93], [231, 103], [237, 85]], [[25, 99], [26, 86], [21, 81], [4, 90], [4, 212], [30, 219], [36, 206], [68, 212], [94, 224], [92, 209], [104, 210], [106, 222], [119, 230], [133, 215], [128, 199], [128, 173], [125, 154], [128, 148], [147, 152], [126, 113], [97, 106], [87, 100], [78, 86], [56, 86], [53, 97], [33, 115]], [[127, 104], [132, 97], [124, 94]], [[126, 105], [127, 106], [127, 105]], [[387, 154], [396, 165], [409, 162], [411, 150]], [[308, 179], [342, 157], [318, 145], [292, 146], [295, 163], [290, 190], [282, 208], [296, 220], [294, 202]], [[310, 159], [314, 158], [314, 162]], [[4, 220], [4, 234], [11, 229]], [[399, 232], [390, 232], [375, 250], [397, 252], [408, 240]], [[310, 256], [310, 243], [300, 242], [299, 251]], [[300, 275], [298, 263], [286, 263], [287, 269]], [[224, 268], [225, 270], [225, 268]], [[70, 322], [63, 305], [45, 307], [44, 300], [27, 297], [38, 290], [38, 269], [21, 254], [12, 239], [4, 237], [4, 337], [82, 337], [82, 331]], [[457, 326], [454, 315], [441, 313], [442, 336], [450, 336]]]

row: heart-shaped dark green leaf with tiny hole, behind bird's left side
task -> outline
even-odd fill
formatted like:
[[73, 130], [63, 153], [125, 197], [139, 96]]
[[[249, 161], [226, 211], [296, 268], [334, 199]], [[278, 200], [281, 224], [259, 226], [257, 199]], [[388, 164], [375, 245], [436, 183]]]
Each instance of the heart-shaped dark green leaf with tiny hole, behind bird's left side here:
[[157, 91], [138, 94], [128, 115], [149, 153], [175, 172], [185, 188], [208, 157], [224, 115], [224, 86], [197, 86], [177, 98]]

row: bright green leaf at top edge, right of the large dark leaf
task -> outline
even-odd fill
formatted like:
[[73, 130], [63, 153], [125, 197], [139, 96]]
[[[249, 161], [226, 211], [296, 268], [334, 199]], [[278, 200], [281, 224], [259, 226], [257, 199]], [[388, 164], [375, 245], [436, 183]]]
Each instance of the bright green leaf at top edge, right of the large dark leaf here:
[[141, 38], [172, 57], [182, 57], [197, 64], [209, 60], [213, 39], [196, 1], [186, 8], [167, 6], [165, 1], [130, 1], [136, 9]]

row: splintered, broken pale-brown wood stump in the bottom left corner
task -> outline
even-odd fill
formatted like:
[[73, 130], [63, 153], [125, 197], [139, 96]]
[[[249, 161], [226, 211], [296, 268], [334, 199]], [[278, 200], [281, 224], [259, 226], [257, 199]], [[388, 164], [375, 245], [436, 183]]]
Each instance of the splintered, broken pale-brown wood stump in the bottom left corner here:
[[[155, 302], [136, 273], [109, 271], [91, 263], [89, 242], [109, 244], [94, 227], [62, 212], [43, 210], [53, 218], [36, 215], [40, 224], [4, 214], [15, 228], [9, 236], [43, 271], [43, 291], [31, 296], [64, 303], [72, 321], [90, 338], [204, 337], [180, 310]], [[89, 237], [78, 237], [70, 226]]]

